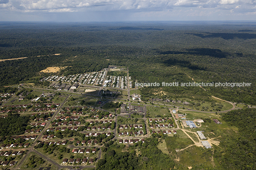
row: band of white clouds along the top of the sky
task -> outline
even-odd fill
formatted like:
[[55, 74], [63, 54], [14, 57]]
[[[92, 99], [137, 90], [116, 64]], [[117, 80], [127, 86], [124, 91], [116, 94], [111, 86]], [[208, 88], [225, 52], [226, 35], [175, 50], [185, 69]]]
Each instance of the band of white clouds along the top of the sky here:
[[[179, 10], [197, 11], [200, 15], [207, 11], [225, 10], [233, 13], [251, 14], [256, 12], [256, 0], [0, 0], [0, 9], [21, 12], [88, 12], [88, 11], [128, 11], [151, 12]], [[202, 14], [203, 11], [203, 14]], [[197, 13], [196, 12], [196, 13]], [[159, 13], [159, 12], [158, 12]], [[192, 12], [190, 12], [192, 15]]]

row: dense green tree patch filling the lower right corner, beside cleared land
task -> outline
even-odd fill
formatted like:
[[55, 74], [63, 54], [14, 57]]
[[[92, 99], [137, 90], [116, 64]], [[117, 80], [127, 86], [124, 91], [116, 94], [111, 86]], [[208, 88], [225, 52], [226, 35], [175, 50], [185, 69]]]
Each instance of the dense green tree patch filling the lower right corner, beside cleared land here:
[[232, 110], [222, 115], [229, 125], [238, 128], [238, 132], [224, 134], [220, 147], [214, 152], [214, 159], [221, 169], [255, 170], [256, 169], [256, 109]]

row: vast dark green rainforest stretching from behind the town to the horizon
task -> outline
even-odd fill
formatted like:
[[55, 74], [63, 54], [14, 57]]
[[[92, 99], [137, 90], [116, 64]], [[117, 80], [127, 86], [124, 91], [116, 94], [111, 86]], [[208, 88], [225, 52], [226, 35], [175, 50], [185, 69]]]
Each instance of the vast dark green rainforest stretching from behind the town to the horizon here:
[[[128, 67], [138, 82], [246, 82], [250, 87], [146, 87], [142, 97], [205, 98], [256, 104], [254, 23], [15, 23], [0, 26], [0, 86], [59, 74]], [[61, 55], [53, 55], [60, 53]], [[40, 56], [40, 57], [35, 57]], [[193, 79], [193, 80], [192, 80]], [[167, 95], [150, 92], [165, 91]]]

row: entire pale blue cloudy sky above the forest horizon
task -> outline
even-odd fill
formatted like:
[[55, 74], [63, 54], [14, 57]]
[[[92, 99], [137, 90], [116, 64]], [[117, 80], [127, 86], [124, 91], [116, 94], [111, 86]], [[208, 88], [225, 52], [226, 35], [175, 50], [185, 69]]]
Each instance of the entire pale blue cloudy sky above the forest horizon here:
[[0, 0], [0, 21], [256, 20], [256, 0]]

